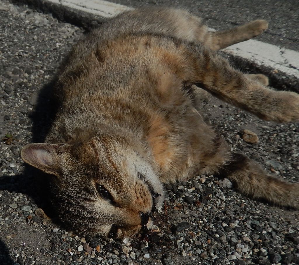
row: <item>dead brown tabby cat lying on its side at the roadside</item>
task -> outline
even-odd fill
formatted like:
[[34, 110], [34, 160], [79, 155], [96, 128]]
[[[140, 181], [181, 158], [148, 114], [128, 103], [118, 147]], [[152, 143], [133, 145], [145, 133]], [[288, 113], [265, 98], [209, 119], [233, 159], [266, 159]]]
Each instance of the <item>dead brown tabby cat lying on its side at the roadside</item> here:
[[78, 234], [128, 241], [152, 226], [163, 183], [214, 174], [244, 195], [299, 207], [299, 184], [235, 154], [196, 104], [200, 88], [261, 119], [299, 121], [299, 95], [267, 88], [264, 75], [232, 68], [217, 50], [268, 27], [256, 20], [209, 32], [186, 10], [141, 8], [92, 30], [63, 61], [60, 107], [45, 143], [22, 159], [49, 173], [53, 205]]

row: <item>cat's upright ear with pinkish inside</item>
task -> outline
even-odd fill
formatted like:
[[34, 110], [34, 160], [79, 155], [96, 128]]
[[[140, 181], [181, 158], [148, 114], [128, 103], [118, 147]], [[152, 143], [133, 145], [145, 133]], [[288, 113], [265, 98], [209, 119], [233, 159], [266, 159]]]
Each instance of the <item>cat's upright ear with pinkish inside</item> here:
[[68, 149], [66, 144], [34, 143], [25, 145], [21, 151], [22, 159], [35, 168], [59, 176], [60, 154]]

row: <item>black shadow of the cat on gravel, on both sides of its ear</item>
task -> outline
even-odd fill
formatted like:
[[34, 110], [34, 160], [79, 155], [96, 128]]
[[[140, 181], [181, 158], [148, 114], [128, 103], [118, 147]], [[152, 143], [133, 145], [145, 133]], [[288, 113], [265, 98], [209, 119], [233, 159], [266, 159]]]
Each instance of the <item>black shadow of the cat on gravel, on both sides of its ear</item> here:
[[[32, 142], [45, 141], [46, 134], [57, 114], [58, 103], [53, 96], [54, 83], [55, 79], [39, 91], [34, 111], [29, 116], [33, 124]], [[49, 203], [51, 189], [49, 187], [53, 176], [27, 164], [25, 164], [23, 172], [23, 174], [1, 177], [0, 190], [30, 196], [38, 207], [42, 208], [48, 216], [51, 216], [52, 209]]]

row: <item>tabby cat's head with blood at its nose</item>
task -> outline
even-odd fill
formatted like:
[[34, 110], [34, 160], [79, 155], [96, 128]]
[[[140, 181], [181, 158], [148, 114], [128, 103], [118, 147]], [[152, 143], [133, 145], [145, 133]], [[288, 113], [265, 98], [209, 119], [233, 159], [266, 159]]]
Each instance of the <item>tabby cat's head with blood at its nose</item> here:
[[62, 224], [79, 234], [130, 238], [152, 226], [148, 217], [163, 201], [149, 163], [111, 139], [28, 144], [21, 156], [54, 175], [54, 209]]

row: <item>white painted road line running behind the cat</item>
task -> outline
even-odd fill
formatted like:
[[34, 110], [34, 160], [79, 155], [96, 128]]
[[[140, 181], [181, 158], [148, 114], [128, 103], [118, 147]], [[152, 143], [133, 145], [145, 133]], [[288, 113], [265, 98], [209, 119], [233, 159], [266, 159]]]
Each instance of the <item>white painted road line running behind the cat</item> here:
[[[113, 17], [126, 10], [134, 9], [103, 0], [47, 1], [106, 18]], [[210, 30], [212, 31], [213, 29]], [[253, 39], [234, 44], [224, 49], [224, 51], [254, 61], [258, 65], [270, 66], [273, 69], [277, 69], [279, 72], [299, 78], [299, 52]]]

